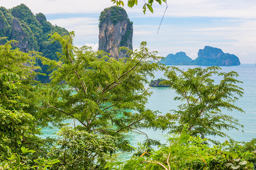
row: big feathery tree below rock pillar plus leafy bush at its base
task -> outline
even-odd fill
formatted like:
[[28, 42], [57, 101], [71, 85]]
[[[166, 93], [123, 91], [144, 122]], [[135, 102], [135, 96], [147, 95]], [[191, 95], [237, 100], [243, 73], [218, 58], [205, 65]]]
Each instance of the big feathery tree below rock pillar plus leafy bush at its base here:
[[[63, 120], [67, 119], [79, 122], [72, 129], [60, 131], [61, 140], [51, 152], [52, 158], [61, 160], [59, 166], [104, 167], [108, 155], [133, 149], [127, 145], [128, 131], [143, 133], [143, 128], [167, 129], [171, 125], [168, 117], [145, 108], [151, 94], [144, 88], [146, 76], [154, 76], [159, 69], [158, 63], [148, 59], [160, 57], [142, 42], [135, 52], [126, 49], [130, 58], [117, 61], [87, 46], [76, 48], [73, 36], [73, 32], [64, 37], [52, 35], [51, 39], [63, 46], [60, 61], [40, 57], [54, 71], [51, 83], [36, 86], [38, 96], [33, 101], [39, 109], [35, 117], [40, 126], [50, 122], [64, 126]], [[83, 160], [86, 163], [77, 165], [82, 158], [87, 158]]]

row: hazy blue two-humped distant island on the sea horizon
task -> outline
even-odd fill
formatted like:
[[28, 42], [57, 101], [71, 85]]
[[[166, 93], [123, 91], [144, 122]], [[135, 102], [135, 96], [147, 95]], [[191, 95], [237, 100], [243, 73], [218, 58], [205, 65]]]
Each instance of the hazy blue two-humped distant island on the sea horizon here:
[[191, 59], [185, 52], [168, 54], [159, 63], [165, 65], [199, 65], [199, 66], [238, 66], [240, 60], [234, 54], [224, 53], [219, 48], [205, 46], [197, 53], [196, 59]]

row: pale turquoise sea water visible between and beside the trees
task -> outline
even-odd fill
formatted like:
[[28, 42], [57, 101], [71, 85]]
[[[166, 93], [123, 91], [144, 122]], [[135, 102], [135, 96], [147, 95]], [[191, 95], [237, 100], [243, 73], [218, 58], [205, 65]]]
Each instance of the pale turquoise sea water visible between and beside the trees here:
[[[195, 68], [197, 66], [177, 66], [180, 69], [187, 70], [188, 68]], [[252, 138], [256, 138], [256, 65], [240, 65], [240, 66], [222, 66], [221, 71], [236, 71], [240, 76], [237, 78], [241, 80], [243, 84], [238, 84], [240, 87], [244, 89], [243, 97], [237, 101], [237, 105], [245, 111], [245, 113], [240, 113], [238, 111], [227, 112], [227, 114], [232, 115], [234, 118], [237, 118], [240, 121], [240, 124], [244, 126], [242, 131], [226, 131], [226, 133], [232, 137], [235, 141], [250, 141]], [[159, 71], [155, 73], [155, 78], [164, 78], [163, 72]], [[215, 77], [216, 81], [218, 78]], [[160, 111], [162, 114], [171, 113], [170, 110], [176, 109], [177, 105], [179, 105], [179, 101], [174, 101], [175, 92], [170, 90], [169, 88], [159, 88], [152, 87], [150, 91], [153, 94], [149, 97], [148, 103], [146, 105], [147, 108], [152, 109], [154, 111]], [[71, 121], [72, 124], [72, 121]], [[44, 136], [55, 135], [53, 134], [56, 129], [44, 129]], [[143, 129], [144, 132], [148, 134], [148, 137], [153, 139], [158, 139], [163, 143], [166, 142], [165, 135], [167, 131], [160, 130], [151, 130], [151, 129]], [[144, 135], [141, 134], [130, 134], [129, 140], [131, 145], [136, 146], [138, 142], [143, 142]], [[215, 138], [218, 141], [224, 142], [225, 138]]]

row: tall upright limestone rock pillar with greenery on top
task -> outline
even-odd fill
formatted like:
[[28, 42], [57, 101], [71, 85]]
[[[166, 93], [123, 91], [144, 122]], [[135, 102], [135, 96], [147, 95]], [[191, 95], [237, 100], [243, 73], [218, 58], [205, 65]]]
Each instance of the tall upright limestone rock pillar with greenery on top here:
[[105, 8], [100, 15], [99, 30], [98, 50], [110, 53], [115, 59], [128, 57], [126, 50], [118, 52], [121, 46], [133, 50], [133, 23], [122, 7]]

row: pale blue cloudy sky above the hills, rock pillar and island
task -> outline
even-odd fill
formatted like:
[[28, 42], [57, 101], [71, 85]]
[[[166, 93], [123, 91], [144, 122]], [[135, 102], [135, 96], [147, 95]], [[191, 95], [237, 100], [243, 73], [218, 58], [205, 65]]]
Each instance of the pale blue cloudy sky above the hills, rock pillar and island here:
[[[24, 3], [36, 14], [42, 12], [53, 25], [75, 31], [75, 45], [98, 46], [98, 17], [110, 0], [10, 0], [0, 6], [11, 8]], [[141, 5], [143, 0], [139, 0]], [[256, 61], [256, 0], [168, 0], [168, 9], [159, 33], [165, 5], [154, 6], [154, 14], [143, 14], [139, 5], [125, 7], [134, 23], [133, 46], [147, 41], [160, 56], [183, 51], [193, 59], [204, 46], [235, 54], [241, 63]]]

